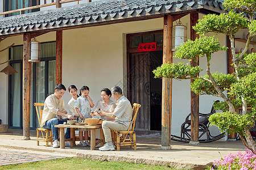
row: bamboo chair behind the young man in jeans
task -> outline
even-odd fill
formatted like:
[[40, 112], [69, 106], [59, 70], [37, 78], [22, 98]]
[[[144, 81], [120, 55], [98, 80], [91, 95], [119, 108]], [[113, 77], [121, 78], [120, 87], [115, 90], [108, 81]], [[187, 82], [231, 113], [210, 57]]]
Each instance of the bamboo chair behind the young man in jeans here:
[[[34, 103], [34, 106], [36, 107], [36, 114], [38, 114], [38, 121], [40, 124], [40, 128], [36, 128], [36, 142], [37, 145], [39, 146], [39, 142], [46, 142], [46, 146], [49, 146], [49, 142], [51, 142], [52, 144], [52, 130], [51, 129], [44, 129], [42, 127], [42, 114], [43, 114], [43, 109], [42, 107], [44, 107], [44, 103]], [[42, 137], [40, 137], [40, 133], [39, 131], [41, 131], [42, 133]], [[44, 133], [46, 133], [46, 135], [44, 135]], [[50, 134], [50, 135], [49, 135]]]

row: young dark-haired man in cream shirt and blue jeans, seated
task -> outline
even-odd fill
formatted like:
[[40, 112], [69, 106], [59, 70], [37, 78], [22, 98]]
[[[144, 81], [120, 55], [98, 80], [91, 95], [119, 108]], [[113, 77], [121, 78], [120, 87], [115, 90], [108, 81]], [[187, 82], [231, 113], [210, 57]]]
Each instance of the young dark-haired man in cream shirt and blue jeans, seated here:
[[[63, 124], [64, 119], [59, 119], [59, 116], [69, 118], [69, 120], [75, 120], [75, 118], [65, 111], [65, 104], [62, 96], [64, 95], [66, 88], [63, 84], [57, 84], [55, 86], [55, 92], [52, 95], [46, 97], [44, 101], [44, 110], [42, 114], [42, 126], [46, 129], [52, 130], [53, 135], [53, 147], [59, 147], [59, 132], [55, 125]], [[69, 138], [69, 130], [65, 134], [65, 139]]]

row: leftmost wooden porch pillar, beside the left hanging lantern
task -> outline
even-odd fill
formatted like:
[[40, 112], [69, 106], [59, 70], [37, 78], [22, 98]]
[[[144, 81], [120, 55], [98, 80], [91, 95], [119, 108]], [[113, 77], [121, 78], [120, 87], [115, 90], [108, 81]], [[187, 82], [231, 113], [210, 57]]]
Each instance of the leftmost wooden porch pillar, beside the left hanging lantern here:
[[31, 86], [31, 63], [28, 62], [29, 45], [31, 41], [30, 33], [23, 35], [23, 140], [30, 140], [30, 86]]

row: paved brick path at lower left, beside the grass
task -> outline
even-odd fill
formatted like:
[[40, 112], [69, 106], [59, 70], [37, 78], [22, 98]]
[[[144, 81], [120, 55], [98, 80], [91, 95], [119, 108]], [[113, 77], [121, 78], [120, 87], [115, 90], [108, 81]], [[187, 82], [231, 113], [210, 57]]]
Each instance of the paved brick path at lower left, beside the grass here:
[[21, 164], [28, 162], [39, 162], [41, 160], [67, 158], [68, 156], [53, 154], [49, 152], [31, 152], [0, 148], [0, 166], [9, 164]]

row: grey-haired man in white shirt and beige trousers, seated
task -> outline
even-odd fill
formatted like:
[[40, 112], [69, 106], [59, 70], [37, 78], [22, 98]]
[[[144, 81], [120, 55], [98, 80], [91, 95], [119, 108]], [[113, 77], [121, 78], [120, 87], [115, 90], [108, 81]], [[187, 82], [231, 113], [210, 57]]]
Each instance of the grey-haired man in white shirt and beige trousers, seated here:
[[112, 142], [111, 131], [112, 130], [127, 130], [131, 124], [133, 116], [133, 108], [130, 101], [123, 96], [122, 90], [118, 86], [114, 86], [111, 89], [112, 96], [117, 101], [117, 107], [114, 112], [106, 112], [104, 110], [98, 111], [100, 116], [107, 116], [115, 118], [114, 121], [103, 121], [102, 130], [104, 131], [106, 144], [99, 148], [101, 151], [114, 151], [115, 146]]

